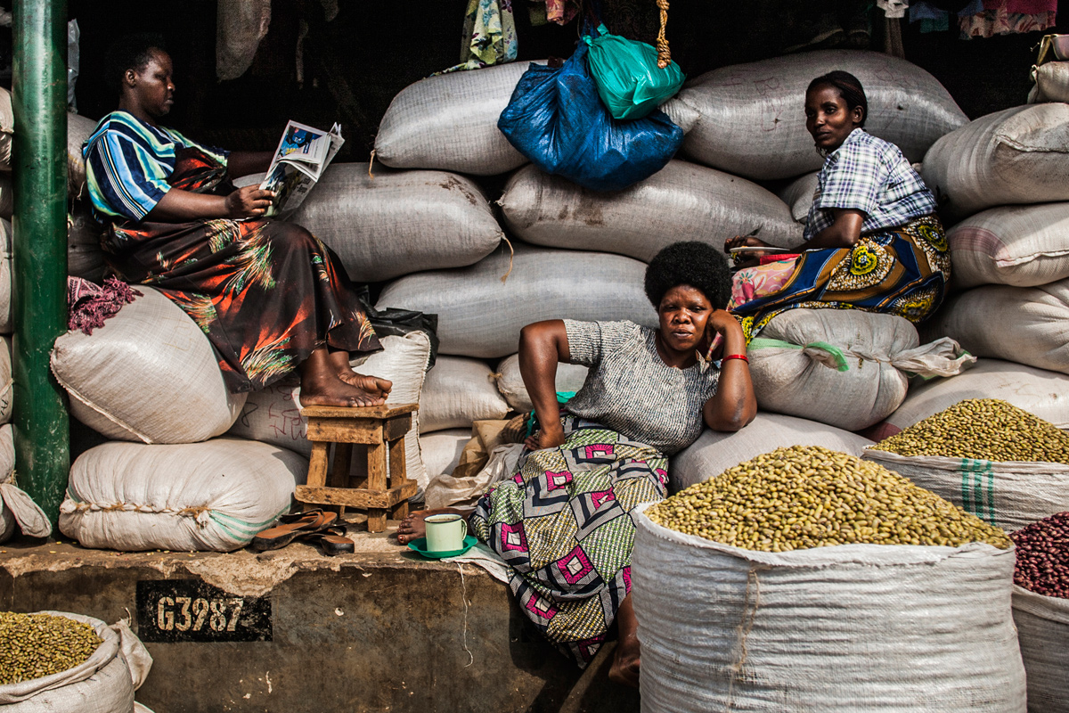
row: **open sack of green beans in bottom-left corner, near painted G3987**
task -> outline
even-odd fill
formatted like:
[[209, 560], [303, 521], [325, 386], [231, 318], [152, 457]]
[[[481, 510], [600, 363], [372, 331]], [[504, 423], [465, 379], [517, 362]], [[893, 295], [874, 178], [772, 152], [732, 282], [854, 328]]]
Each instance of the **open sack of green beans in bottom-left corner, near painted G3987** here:
[[125, 621], [0, 613], [4, 713], [129, 713], [152, 656]]

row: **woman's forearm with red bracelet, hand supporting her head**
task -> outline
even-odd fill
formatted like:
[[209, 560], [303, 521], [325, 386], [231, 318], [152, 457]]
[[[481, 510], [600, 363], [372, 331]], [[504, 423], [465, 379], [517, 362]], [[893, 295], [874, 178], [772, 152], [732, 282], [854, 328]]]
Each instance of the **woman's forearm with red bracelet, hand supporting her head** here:
[[[706, 329], [724, 335], [724, 356], [746, 354], [746, 338], [742, 327], [725, 310], [709, 316]], [[757, 416], [757, 398], [749, 378], [749, 363], [742, 359], [721, 362], [721, 382], [716, 393], [702, 408], [706, 425], [713, 431], [738, 431]]]

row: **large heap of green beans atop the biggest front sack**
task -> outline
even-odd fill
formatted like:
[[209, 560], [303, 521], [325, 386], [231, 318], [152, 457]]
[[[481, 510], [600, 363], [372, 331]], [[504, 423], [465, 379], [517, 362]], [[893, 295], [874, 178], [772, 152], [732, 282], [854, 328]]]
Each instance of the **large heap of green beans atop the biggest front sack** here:
[[759, 552], [854, 543], [1010, 546], [1000, 528], [897, 472], [817, 446], [764, 453], [646, 514], [672, 530]]

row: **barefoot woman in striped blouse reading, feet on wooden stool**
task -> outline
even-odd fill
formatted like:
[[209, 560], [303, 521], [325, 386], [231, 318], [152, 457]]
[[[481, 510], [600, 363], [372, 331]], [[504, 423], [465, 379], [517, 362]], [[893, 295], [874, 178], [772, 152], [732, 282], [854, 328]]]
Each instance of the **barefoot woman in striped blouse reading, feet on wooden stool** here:
[[82, 154], [111, 270], [185, 310], [233, 392], [299, 368], [305, 405], [384, 403], [390, 382], [350, 368], [351, 352], [382, 347], [338, 257], [299, 226], [263, 218], [274, 193], [230, 182], [265, 171], [272, 152], [228, 153], [156, 123], [174, 94], [158, 35], [121, 40], [108, 64], [119, 110]]

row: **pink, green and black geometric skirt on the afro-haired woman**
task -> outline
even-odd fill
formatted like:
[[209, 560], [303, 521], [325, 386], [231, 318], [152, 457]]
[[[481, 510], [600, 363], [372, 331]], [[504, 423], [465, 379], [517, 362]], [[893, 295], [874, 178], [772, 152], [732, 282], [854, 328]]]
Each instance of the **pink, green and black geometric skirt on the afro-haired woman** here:
[[664, 499], [668, 459], [600, 423], [560, 422], [564, 443], [525, 451], [470, 522], [508, 564], [523, 611], [584, 668], [631, 591], [631, 511]]

